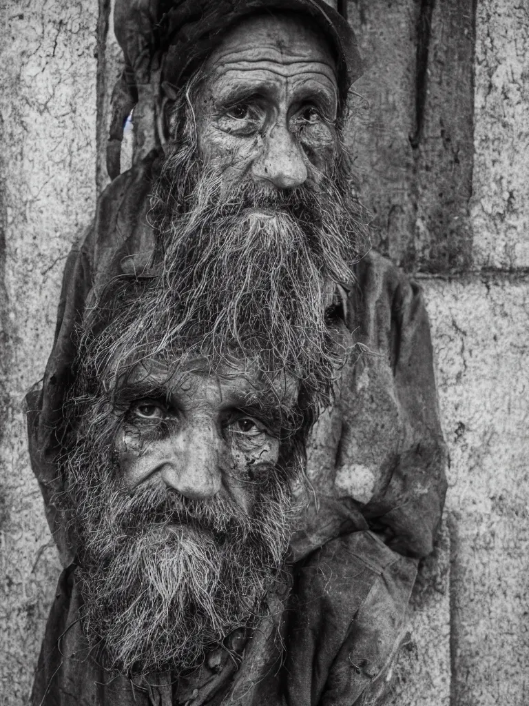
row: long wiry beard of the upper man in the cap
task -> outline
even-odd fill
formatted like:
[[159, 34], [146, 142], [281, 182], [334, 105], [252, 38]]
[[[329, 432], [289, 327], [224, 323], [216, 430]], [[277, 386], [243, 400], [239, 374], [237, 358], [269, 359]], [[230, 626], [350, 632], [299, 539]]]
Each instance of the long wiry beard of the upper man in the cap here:
[[[142, 294], [133, 337], [118, 347], [141, 349], [148, 340], [154, 354], [172, 340], [199, 341], [191, 354], [260, 360], [265, 372], [293, 374], [327, 404], [344, 357], [329, 304], [335, 285], [353, 280], [365, 247], [365, 223], [340, 174], [312, 169], [291, 191], [248, 177], [229, 184], [191, 148], [176, 150], [151, 213], [158, 276]], [[123, 316], [119, 326], [132, 330]]]

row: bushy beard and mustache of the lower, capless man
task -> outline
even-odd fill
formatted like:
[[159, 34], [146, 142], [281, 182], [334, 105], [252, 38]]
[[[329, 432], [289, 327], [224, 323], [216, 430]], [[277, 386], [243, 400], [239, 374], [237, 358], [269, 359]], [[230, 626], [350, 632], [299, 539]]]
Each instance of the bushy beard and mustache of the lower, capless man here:
[[199, 502], [158, 487], [130, 496], [105, 458], [104, 424], [89, 425], [66, 464], [83, 627], [107, 669], [179, 674], [265, 610], [288, 546], [290, 483], [263, 469], [250, 516], [229, 496]]

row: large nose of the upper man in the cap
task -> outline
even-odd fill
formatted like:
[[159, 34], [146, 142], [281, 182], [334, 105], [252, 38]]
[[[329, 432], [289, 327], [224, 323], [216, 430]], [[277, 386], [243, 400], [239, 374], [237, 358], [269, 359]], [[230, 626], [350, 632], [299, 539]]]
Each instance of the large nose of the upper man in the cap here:
[[268, 133], [252, 174], [257, 181], [265, 179], [277, 189], [294, 189], [307, 179], [303, 152], [286, 125], [276, 124]]

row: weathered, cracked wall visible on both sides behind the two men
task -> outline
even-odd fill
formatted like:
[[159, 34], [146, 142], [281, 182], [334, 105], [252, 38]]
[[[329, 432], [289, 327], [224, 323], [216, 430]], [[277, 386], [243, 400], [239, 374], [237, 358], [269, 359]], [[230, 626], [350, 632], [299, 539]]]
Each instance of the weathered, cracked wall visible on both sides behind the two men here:
[[[110, 0], [0, 1], [0, 705], [25, 703], [59, 561], [25, 449], [64, 258], [104, 186]], [[529, 14], [355, 0], [348, 143], [379, 246], [418, 273], [451, 452], [394, 706], [523, 706], [529, 491]], [[525, 63], [524, 63], [525, 62]], [[98, 139], [99, 137], [99, 139]]]

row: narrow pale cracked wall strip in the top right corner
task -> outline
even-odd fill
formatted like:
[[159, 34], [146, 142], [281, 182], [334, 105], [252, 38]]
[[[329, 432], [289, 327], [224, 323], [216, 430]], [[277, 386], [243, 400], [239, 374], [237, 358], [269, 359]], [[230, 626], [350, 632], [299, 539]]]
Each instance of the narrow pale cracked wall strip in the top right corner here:
[[472, 217], [479, 267], [529, 267], [529, 8], [477, 5]]

